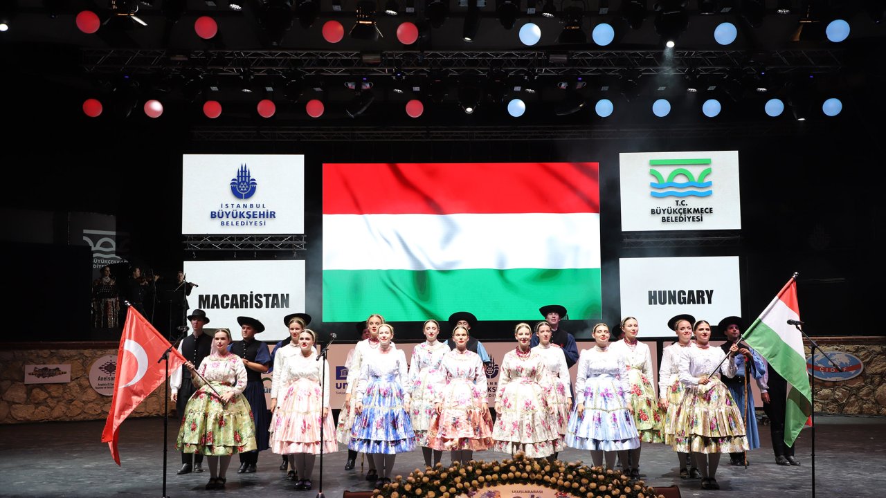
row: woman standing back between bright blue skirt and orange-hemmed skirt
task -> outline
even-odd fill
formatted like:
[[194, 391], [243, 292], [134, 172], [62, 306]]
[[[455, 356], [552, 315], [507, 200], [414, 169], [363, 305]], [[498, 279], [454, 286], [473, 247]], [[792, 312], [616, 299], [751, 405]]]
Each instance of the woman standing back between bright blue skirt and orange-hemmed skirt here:
[[[424, 464], [428, 467], [439, 463], [442, 451], [431, 450], [428, 444], [428, 427], [434, 413], [434, 400], [443, 385], [439, 366], [443, 355], [449, 352], [446, 343], [437, 340], [439, 323], [428, 320], [422, 327], [426, 342], [412, 351], [409, 360], [409, 392], [412, 396], [412, 430], [416, 432], [416, 443], [422, 447]], [[431, 460], [431, 452], [433, 459]]]

